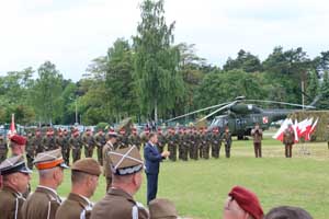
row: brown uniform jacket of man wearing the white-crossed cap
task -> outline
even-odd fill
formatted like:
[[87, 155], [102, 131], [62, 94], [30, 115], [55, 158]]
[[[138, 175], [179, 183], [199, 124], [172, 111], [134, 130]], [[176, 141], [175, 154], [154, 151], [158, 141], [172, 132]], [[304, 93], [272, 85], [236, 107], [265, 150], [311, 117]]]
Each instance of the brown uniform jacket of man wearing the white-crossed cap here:
[[148, 211], [126, 192], [111, 188], [93, 207], [91, 219], [148, 219]]

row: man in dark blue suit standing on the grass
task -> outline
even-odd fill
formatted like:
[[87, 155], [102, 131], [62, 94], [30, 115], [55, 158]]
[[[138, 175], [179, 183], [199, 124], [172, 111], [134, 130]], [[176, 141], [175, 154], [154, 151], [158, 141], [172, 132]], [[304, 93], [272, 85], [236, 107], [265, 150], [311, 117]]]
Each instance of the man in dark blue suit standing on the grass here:
[[144, 148], [144, 159], [147, 176], [147, 204], [157, 197], [158, 192], [158, 175], [160, 162], [169, 157], [169, 151], [160, 153], [157, 149], [158, 136], [156, 132], [149, 135], [149, 141]]

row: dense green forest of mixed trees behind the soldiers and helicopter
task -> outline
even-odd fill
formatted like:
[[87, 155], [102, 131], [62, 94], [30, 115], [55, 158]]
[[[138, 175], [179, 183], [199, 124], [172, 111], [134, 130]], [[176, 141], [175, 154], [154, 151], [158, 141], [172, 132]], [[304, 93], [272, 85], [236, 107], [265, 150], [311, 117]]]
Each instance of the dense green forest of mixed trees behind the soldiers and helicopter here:
[[[214, 48], [220, 49], [220, 48]], [[309, 58], [302, 47], [274, 47], [260, 60], [242, 48], [223, 67], [197, 56], [195, 45], [174, 42], [163, 0], [145, 0], [131, 38], [117, 38], [73, 82], [50, 60], [0, 77], [0, 123], [21, 125], [168, 119], [236, 96], [305, 104], [321, 95], [329, 108], [329, 50]]]

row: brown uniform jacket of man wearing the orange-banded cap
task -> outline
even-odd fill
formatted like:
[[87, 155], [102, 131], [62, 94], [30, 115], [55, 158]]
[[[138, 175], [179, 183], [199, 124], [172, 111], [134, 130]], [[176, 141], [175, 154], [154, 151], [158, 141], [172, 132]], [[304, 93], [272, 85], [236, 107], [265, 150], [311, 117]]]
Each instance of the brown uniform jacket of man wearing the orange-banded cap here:
[[23, 219], [54, 219], [60, 203], [56, 193], [38, 186], [23, 205]]

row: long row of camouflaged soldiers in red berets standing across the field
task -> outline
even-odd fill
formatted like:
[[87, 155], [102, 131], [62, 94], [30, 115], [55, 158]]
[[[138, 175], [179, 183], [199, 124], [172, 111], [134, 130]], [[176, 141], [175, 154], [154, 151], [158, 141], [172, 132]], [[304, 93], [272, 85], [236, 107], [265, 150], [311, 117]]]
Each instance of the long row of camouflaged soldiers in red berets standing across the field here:
[[[112, 131], [112, 129], [110, 129]], [[148, 141], [150, 130], [145, 129], [140, 135], [136, 128], [133, 128], [131, 134], [126, 132], [124, 128], [120, 130], [120, 136], [114, 148], [126, 148], [128, 146], [136, 146], [140, 150], [141, 146]], [[220, 132], [218, 128], [207, 131], [206, 128], [180, 128], [175, 130], [170, 127], [164, 134], [160, 128], [158, 129], [158, 150], [163, 151], [167, 146], [170, 151], [170, 160], [177, 159], [188, 161], [189, 159], [209, 159], [219, 158], [222, 142], [225, 145], [226, 158], [230, 157], [231, 135], [228, 129]], [[55, 150], [60, 148], [64, 160], [67, 165], [81, 159], [81, 153], [84, 151], [86, 158], [92, 158], [94, 150], [97, 150], [98, 161], [103, 164], [102, 150], [109, 134], [99, 129], [95, 134], [91, 129], [87, 129], [80, 134], [78, 129], [68, 131], [67, 129], [58, 129], [55, 134], [54, 129], [49, 128], [45, 134], [39, 129], [35, 132], [29, 131], [26, 134], [26, 158], [29, 168], [33, 168], [33, 160], [37, 153]], [[8, 147], [3, 136], [0, 135], [0, 162], [7, 158]]]

